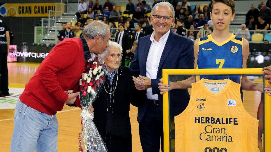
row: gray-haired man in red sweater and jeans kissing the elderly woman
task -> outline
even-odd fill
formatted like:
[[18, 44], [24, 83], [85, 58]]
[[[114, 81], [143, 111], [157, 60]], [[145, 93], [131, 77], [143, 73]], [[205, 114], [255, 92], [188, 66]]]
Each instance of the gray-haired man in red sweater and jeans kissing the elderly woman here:
[[[79, 79], [90, 53], [102, 54], [109, 26], [92, 21], [80, 38], [55, 45], [25, 86], [14, 113], [11, 152], [57, 152], [56, 112], [79, 100]], [[87, 55], [88, 54], [88, 55]]]

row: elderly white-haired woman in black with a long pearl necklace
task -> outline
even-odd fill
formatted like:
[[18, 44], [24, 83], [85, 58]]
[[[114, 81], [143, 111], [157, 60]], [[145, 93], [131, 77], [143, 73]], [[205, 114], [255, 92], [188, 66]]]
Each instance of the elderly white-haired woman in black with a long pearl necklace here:
[[131, 152], [130, 103], [138, 106], [138, 101], [144, 101], [139, 97], [145, 92], [136, 90], [129, 69], [119, 66], [122, 48], [118, 43], [109, 41], [99, 58], [104, 62], [106, 80], [93, 103], [93, 121], [109, 152]]

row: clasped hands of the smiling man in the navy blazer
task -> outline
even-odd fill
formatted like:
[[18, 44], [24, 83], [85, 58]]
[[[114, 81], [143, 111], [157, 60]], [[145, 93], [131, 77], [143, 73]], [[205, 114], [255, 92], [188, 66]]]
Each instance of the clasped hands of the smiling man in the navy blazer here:
[[139, 75], [137, 78], [133, 76], [133, 81], [137, 90], [146, 90], [147, 88], [152, 87], [151, 79], [146, 76]]

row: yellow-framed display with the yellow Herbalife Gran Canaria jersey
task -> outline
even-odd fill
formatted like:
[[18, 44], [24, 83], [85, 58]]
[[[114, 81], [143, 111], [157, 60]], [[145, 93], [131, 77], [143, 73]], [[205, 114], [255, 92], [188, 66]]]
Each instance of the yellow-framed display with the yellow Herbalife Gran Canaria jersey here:
[[[176, 75], [259, 76], [265, 80], [261, 68], [163, 69], [164, 84]], [[244, 107], [240, 88], [240, 83], [230, 79], [202, 78], [192, 83], [187, 107], [174, 118], [171, 91], [164, 93], [164, 152], [258, 152], [259, 121]], [[271, 101], [271, 96], [265, 93], [263, 99]], [[271, 103], [264, 102], [264, 109], [263, 147], [264, 152], [271, 152]]]

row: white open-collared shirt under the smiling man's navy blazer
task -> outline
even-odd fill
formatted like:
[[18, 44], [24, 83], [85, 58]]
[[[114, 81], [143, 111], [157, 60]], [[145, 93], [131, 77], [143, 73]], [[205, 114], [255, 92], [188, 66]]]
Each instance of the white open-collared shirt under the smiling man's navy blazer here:
[[[154, 35], [155, 31], [153, 31], [150, 40], [152, 41], [149, 53], [148, 53], [148, 58], [147, 58], [147, 63], [146, 63], [146, 76], [150, 79], [156, 79], [157, 78], [157, 72], [158, 72], [158, 66], [160, 63], [160, 58], [162, 56], [164, 47], [166, 45], [166, 42], [168, 40], [170, 30], [168, 30], [167, 33], [165, 33], [159, 40], [159, 42], [155, 41]], [[158, 95], [157, 94], [152, 94], [152, 88], [147, 89], [147, 98], [148, 99], [154, 99], [158, 100]]]

